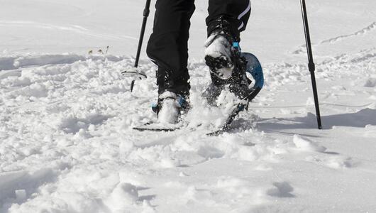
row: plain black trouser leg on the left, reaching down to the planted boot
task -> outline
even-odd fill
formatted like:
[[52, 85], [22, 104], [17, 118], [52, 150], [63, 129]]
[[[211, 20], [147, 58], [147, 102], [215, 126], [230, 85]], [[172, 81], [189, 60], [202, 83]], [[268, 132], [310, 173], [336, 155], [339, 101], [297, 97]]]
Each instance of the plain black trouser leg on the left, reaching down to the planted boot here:
[[157, 0], [155, 8], [147, 53], [158, 66], [158, 92], [171, 91], [188, 96], [187, 43], [194, 0]]

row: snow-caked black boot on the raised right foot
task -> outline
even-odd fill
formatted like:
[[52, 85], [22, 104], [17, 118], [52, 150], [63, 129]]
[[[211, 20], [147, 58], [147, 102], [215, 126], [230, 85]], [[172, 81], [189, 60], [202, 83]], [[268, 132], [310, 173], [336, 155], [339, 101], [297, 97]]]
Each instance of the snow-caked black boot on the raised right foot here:
[[245, 75], [247, 62], [240, 56], [238, 38], [228, 30], [228, 22], [219, 18], [216, 28], [205, 43], [205, 60], [211, 74], [211, 85], [204, 92], [209, 104], [214, 104], [228, 85], [230, 92], [244, 99], [250, 93], [250, 80]]

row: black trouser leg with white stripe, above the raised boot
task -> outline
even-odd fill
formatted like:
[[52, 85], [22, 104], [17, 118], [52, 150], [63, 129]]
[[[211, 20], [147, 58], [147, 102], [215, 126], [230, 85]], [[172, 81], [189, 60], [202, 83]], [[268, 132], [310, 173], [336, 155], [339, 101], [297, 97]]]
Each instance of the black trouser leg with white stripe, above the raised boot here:
[[228, 28], [240, 41], [240, 32], [245, 30], [250, 16], [250, 0], [209, 0], [208, 11], [208, 36], [216, 29]]

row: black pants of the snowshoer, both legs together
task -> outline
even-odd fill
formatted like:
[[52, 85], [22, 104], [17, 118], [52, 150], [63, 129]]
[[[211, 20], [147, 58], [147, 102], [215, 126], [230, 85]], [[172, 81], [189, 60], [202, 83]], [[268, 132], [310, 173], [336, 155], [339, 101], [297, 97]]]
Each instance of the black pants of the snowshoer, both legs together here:
[[[195, 9], [194, 0], [157, 0], [155, 8], [147, 53], [158, 66], [158, 92], [167, 90], [187, 96], [189, 19]], [[250, 16], [250, 0], [209, 0], [208, 11], [208, 35], [226, 23], [228, 31], [240, 41], [239, 34], [245, 30]]]

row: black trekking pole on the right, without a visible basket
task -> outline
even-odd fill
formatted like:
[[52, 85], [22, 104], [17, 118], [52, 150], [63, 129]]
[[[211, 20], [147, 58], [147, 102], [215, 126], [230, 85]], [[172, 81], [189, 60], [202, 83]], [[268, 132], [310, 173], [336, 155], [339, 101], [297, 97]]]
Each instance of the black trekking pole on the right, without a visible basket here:
[[317, 87], [316, 87], [315, 64], [314, 64], [314, 57], [312, 55], [311, 37], [309, 35], [308, 18], [307, 18], [307, 15], [306, 15], [306, 1], [300, 0], [300, 5], [302, 6], [304, 33], [306, 35], [306, 51], [307, 51], [307, 54], [308, 54], [308, 68], [309, 68], [309, 72], [311, 72], [312, 89], [314, 90], [314, 101], [315, 101], [315, 107], [316, 107], [317, 126], [319, 127], [319, 129], [322, 129], [320, 107], [319, 107], [319, 97], [317, 95]]

